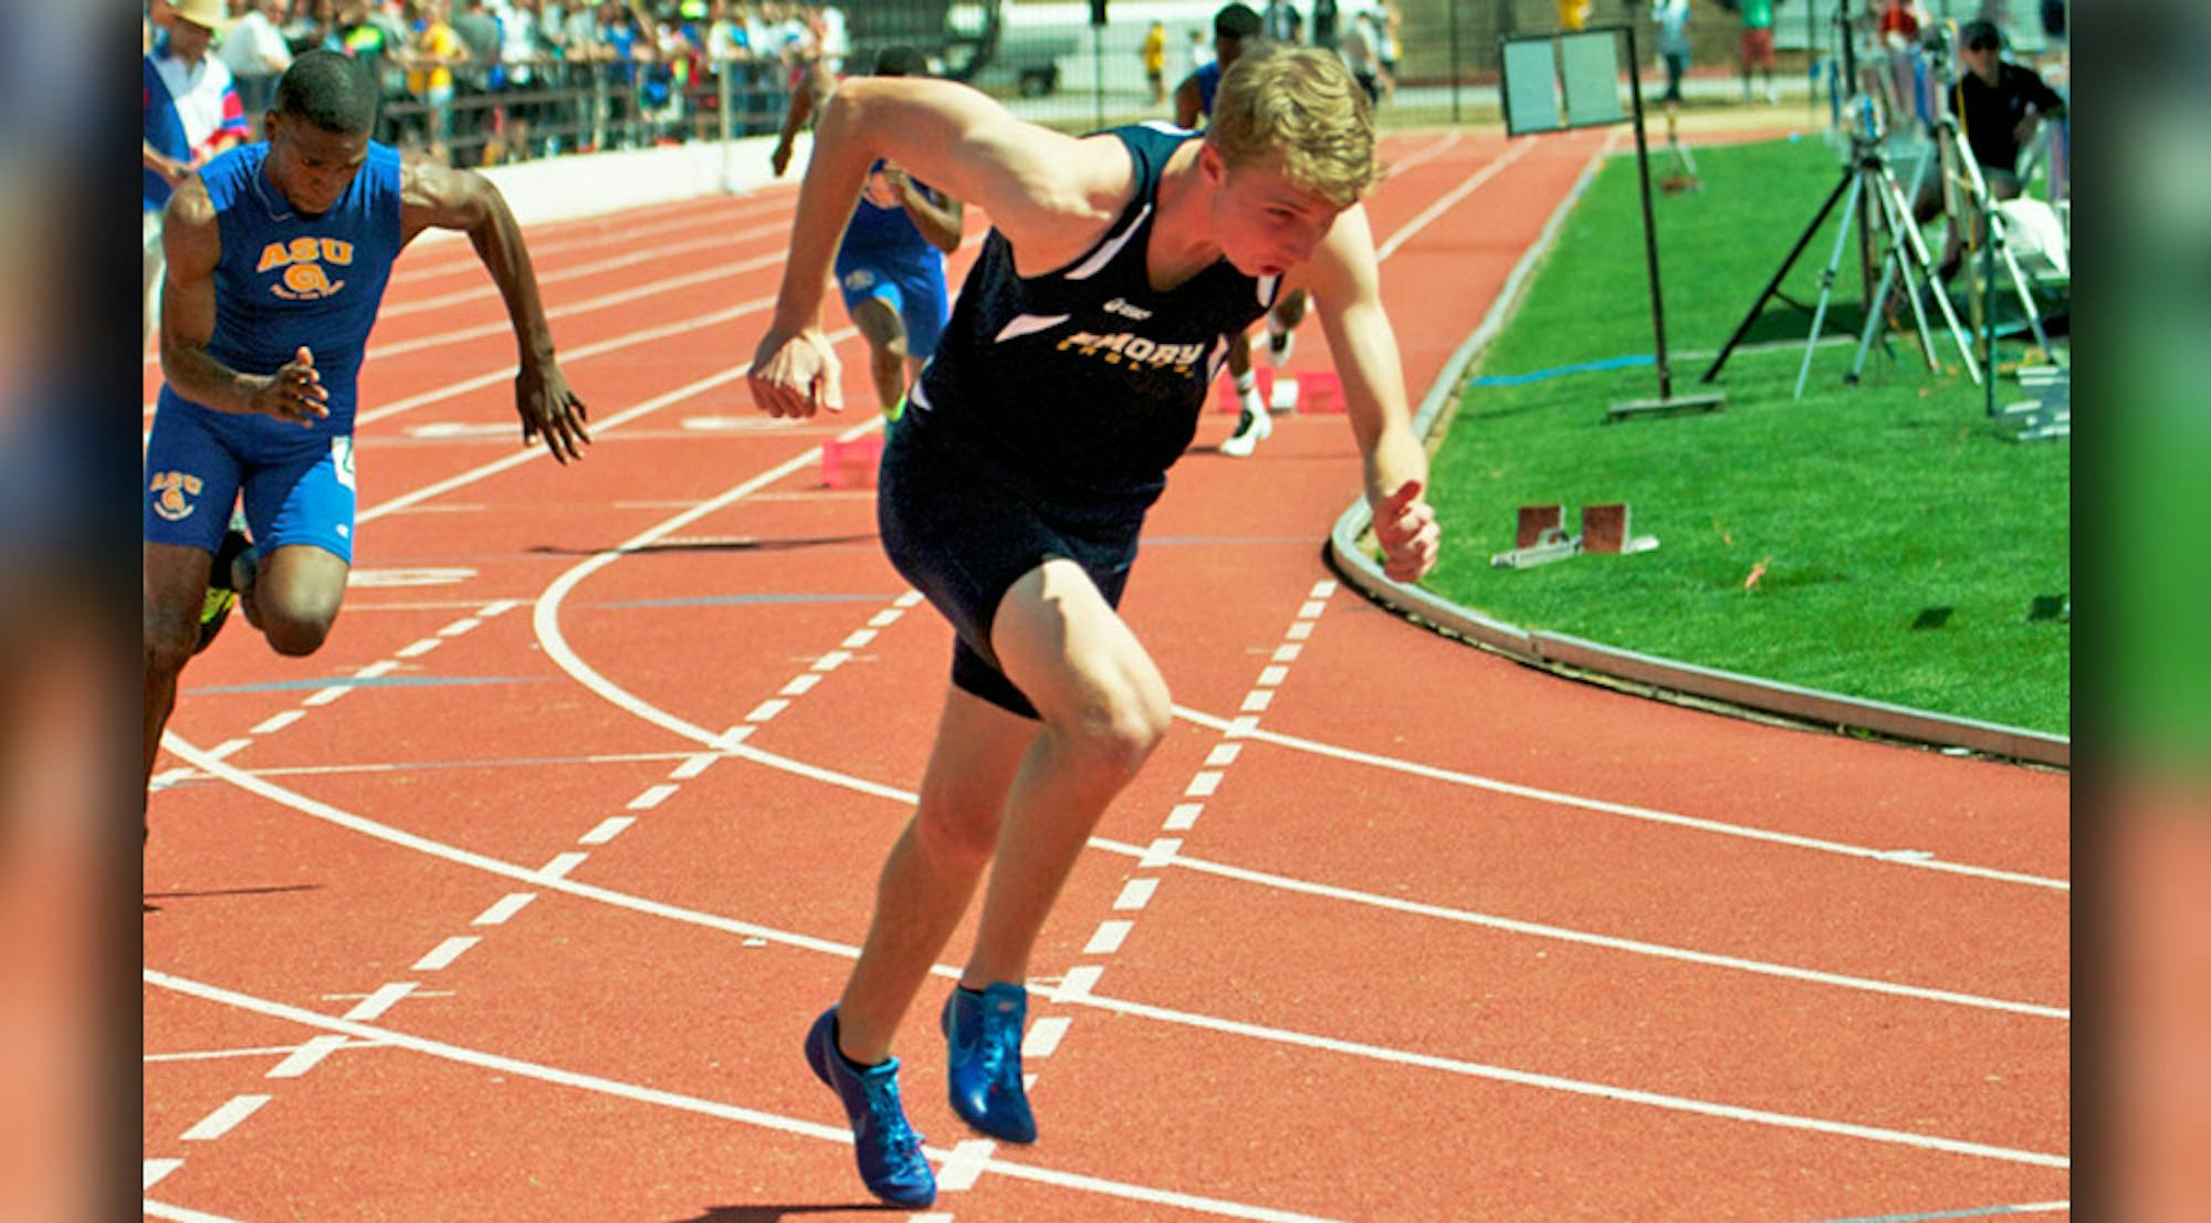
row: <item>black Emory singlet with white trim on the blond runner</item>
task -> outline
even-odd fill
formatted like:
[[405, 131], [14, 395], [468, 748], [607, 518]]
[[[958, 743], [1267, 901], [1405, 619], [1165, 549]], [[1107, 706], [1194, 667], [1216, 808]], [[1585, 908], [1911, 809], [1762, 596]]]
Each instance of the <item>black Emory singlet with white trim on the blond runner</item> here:
[[1280, 285], [1218, 259], [1154, 290], [1148, 250], [1159, 179], [1196, 135], [1172, 124], [1110, 135], [1136, 170], [1121, 217], [1081, 259], [1030, 279], [991, 230], [900, 429], [1028, 495], [1141, 518], [1196, 436], [1205, 387], [1227, 352], [1223, 336], [1265, 314]]

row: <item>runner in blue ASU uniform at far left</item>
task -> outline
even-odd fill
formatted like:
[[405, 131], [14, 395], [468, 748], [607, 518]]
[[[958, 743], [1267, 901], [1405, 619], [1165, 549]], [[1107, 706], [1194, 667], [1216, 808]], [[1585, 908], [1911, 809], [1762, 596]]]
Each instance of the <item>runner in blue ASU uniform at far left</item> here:
[[[310, 51], [276, 84], [268, 142], [168, 201], [161, 398], [146, 445], [146, 778], [177, 675], [241, 595], [279, 655], [329, 635], [354, 562], [354, 378], [391, 261], [427, 228], [475, 241], [522, 345], [522, 442], [581, 458], [584, 403], [553, 358], [522, 230], [482, 175], [369, 139], [376, 82]], [[232, 524], [243, 493], [248, 540]]]

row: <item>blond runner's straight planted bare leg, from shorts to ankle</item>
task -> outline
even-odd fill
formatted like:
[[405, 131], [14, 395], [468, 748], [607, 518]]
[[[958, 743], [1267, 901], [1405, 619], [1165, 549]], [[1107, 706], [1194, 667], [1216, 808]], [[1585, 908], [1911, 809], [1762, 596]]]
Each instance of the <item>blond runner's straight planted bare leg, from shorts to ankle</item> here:
[[929, 980], [991, 860], [999, 812], [1037, 723], [951, 688], [920, 805], [876, 885], [876, 918], [838, 1000], [838, 1046], [873, 1066]]

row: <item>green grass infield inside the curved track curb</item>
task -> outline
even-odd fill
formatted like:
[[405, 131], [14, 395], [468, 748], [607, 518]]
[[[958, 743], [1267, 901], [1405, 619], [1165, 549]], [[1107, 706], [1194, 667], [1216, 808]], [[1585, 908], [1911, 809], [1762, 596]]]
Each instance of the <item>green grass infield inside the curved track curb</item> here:
[[[1842, 175], [1813, 139], [1696, 159], [1705, 190], [1656, 199], [1674, 394], [1709, 389], [1711, 354]], [[1638, 208], [1634, 159], [1616, 157], [1477, 363], [1435, 456], [1446, 546], [1426, 584], [1530, 628], [2069, 734], [2072, 445], [2010, 440], [1939, 321], [1941, 372], [1906, 332], [1846, 387], [1851, 254], [1826, 332], [1853, 338], [1815, 349], [1802, 400], [1811, 318], [1773, 301], [1718, 378], [1725, 411], [1607, 422], [1607, 405], [1658, 394]], [[1800, 303], [1833, 226], [1784, 281]], [[1660, 546], [1492, 568], [1517, 506], [1550, 502], [1570, 531], [1579, 506], [1627, 502]]]

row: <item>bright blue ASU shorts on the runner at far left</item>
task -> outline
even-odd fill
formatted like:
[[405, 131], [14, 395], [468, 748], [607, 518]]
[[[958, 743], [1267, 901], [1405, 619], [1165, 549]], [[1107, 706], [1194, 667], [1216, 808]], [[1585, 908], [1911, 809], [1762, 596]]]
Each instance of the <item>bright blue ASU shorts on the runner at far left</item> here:
[[298, 438], [272, 438], [263, 416], [164, 394], [146, 442], [146, 542], [212, 553], [243, 489], [245, 524], [263, 555], [314, 544], [354, 564], [354, 436], [285, 429]]

